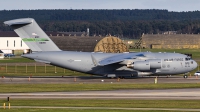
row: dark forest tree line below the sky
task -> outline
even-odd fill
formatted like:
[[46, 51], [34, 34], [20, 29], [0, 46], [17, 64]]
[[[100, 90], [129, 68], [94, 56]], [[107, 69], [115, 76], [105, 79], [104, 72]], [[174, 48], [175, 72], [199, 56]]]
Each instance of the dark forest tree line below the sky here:
[[170, 12], [168, 10], [2, 10], [0, 31], [12, 31], [3, 24], [16, 18], [34, 18], [45, 31], [82, 32], [90, 35], [115, 35], [139, 38], [143, 33], [165, 31], [200, 32], [200, 11]]

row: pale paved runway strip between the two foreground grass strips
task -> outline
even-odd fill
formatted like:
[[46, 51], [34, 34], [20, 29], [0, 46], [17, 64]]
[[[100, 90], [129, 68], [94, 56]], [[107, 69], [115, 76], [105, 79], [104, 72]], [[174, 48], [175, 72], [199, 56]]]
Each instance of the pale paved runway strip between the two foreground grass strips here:
[[200, 100], [200, 88], [79, 92], [1, 93], [0, 99], [177, 99]]

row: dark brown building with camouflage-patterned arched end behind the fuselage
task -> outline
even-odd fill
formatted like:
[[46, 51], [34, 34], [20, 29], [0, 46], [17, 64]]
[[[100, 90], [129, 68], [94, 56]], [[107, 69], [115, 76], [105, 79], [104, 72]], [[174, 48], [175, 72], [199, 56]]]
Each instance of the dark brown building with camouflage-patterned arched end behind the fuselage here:
[[50, 36], [50, 38], [64, 51], [128, 52], [127, 46], [117, 37]]

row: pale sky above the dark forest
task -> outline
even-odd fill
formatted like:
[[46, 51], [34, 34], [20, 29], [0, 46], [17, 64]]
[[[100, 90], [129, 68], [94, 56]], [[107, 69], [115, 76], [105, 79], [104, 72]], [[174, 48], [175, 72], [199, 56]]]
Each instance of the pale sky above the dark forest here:
[[0, 10], [18, 9], [167, 9], [200, 11], [200, 0], [0, 0]]

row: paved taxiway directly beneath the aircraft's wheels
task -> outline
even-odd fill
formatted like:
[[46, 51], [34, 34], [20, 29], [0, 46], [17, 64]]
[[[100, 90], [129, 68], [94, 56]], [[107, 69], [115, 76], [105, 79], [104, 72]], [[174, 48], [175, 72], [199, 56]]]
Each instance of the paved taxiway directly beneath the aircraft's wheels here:
[[[141, 78], [128, 78], [128, 79], [109, 79], [105, 77], [97, 76], [85, 76], [76, 77], [75, 76], [49, 76], [49, 77], [5, 77], [0, 78], [1, 83], [154, 83], [155, 76], [151, 77], [141, 77]], [[158, 83], [200, 83], [200, 77], [195, 76], [184, 79], [182, 76], [160, 76], [157, 78]]]

